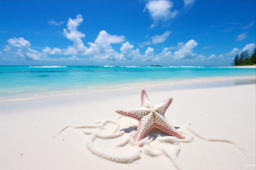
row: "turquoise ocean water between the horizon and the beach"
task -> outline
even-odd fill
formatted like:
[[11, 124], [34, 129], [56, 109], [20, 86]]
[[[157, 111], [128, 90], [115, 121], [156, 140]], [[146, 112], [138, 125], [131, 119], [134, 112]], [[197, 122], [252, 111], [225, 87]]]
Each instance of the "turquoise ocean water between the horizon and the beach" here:
[[42, 93], [184, 81], [214, 77], [255, 76], [252, 68], [150, 66], [0, 66], [0, 99]]

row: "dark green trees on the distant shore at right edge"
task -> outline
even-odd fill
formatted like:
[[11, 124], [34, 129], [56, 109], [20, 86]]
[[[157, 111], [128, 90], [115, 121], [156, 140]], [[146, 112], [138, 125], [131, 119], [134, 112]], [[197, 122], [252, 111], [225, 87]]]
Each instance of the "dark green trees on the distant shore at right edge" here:
[[249, 56], [248, 51], [243, 51], [240, 55], [236, 55], [234, 58], [233, 66], [248, 66], [256, 64], [256, 48], [251, 56]]

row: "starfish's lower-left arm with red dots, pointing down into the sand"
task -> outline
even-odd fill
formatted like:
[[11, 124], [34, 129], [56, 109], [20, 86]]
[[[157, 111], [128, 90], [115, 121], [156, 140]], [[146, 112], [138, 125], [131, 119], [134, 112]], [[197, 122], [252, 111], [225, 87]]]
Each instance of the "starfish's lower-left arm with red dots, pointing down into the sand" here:
[[154, 124], [154, 122], [148, 115], [143, 117], [139, 121], [139, 125], [138, 125], [137, 131], [134, 136], [135, 144], [137, 144], [138, 141], [140, 141], [141, 139], [144, 139], [144, 137], [148, 134], [148, 132], [154, 127], [153, 124]]

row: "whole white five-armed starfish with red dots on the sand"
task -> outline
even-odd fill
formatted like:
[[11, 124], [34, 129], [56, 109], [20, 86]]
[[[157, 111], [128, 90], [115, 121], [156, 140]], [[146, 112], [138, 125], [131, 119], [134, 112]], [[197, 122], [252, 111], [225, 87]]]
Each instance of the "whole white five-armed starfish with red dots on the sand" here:
[[135, 109], [117, 109], [116, 113], [131, 117], [139, 121], [137, 131], [135, 133], [135, 144], [143, 139], [148, 132], [156, 127], [169, 135], [184, 139], [184, 135], [176, 130], [164, 117], [164, 113], [173, 101], [169, 97], [162, 104], [153, 105], [149, 102], [148, 95], [144, 88], [141, 89], [141, 108]]

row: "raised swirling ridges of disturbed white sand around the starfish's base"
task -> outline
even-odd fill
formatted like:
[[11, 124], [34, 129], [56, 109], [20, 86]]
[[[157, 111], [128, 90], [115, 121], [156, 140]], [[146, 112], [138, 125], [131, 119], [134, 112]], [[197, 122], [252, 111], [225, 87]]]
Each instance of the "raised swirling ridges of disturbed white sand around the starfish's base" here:
[[202, 137], [190, 126], [179, 128], [179, 131], [186, 136], [186, 139], [178, 139], [160, 130], [153, 129], [135, 145], [133, 139], [137, 126], [134, 121], [129, 121], [126, 117], [120, 117], [116, 120], [94, 121], [92, 125], [68, 125], [57, 135], [69, 127], [85, 129], [83, 133], [89, 135], [89, 139], [86, 142], [88, 150], [98, 157], [117, 163], [133, 163], [141, 158], [141, 154], [146, 154], [150, 157], [166, 155], [173, 162], [177, 170], [182, 170], [177, 161], [177, 155], [180, 152], [180, 142], [191, 142], [193, 137], [198, 137], [205, 141], [226, 142], [242, 150], [237, 144], [228, 139]]

